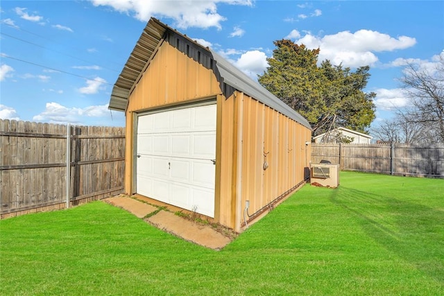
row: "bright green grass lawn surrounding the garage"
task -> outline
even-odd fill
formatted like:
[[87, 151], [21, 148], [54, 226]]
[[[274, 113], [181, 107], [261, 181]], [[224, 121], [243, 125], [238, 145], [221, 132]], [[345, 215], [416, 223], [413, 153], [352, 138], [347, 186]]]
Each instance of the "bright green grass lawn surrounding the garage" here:
[[0, 295], [444, 295], [444, 180], [341, 173], [216, 252], [92, 202], [0, 221]]

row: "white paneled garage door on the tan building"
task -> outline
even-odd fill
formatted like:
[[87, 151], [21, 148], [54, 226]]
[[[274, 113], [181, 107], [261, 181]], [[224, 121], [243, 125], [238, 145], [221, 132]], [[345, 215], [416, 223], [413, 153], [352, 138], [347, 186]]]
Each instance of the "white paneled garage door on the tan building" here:
[[137, 193], [214, 218], [216, 105], [139, 116]]

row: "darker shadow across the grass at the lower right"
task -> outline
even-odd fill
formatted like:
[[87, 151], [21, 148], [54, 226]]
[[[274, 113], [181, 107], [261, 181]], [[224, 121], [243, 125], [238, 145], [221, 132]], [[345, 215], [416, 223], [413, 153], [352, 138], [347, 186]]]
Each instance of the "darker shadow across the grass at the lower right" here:
[[379, 245], [444, 284], [442, 211], [349, 188], [334, 191], [330, 200], [357, 216]]

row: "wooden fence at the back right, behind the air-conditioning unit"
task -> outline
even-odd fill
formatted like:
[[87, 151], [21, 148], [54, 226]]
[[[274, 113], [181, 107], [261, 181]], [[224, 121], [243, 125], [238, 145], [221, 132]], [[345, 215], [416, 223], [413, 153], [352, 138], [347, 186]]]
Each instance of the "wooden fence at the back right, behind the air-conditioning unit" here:
[[444, 144], [311, 144], [311, 163], [323, 159], [343, 171], [444, 178]]

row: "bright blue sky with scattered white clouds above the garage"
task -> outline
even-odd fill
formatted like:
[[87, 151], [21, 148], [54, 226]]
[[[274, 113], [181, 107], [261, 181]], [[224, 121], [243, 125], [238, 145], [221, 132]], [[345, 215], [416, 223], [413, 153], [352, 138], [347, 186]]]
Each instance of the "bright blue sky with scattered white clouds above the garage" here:
[[444, 1], [1, 1], [0, 118], [123, 126], [112, 85], [146, 22], [218, 51], [253, 79], [273, 41], [320, 48], [319, 60], [370, 65], [373, 126], [409, 104], [407, 62], [433, 67], [444, 50]]

